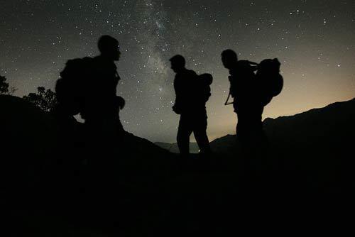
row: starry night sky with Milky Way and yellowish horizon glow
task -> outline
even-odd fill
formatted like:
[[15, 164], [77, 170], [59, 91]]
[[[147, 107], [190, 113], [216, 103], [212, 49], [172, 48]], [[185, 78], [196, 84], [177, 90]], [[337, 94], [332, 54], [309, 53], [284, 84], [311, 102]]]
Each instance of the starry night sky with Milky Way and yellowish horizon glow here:
[[212, 140], [235, 133], [236, 114], [224, 106], [226, 48], [240, 59], [278, 57], [283, 92], [263, 118], [297, 114], [355, 97], [354, 0], [0, 0], [0, 75], [16, 96], [54, 89], [65, 62], [98, 54], [108, 34], [121, 45], [118, 94], [126, 99], [126, 131], [174, 142], [179, 117], [170, 57], [214, 77], [207, 102]]

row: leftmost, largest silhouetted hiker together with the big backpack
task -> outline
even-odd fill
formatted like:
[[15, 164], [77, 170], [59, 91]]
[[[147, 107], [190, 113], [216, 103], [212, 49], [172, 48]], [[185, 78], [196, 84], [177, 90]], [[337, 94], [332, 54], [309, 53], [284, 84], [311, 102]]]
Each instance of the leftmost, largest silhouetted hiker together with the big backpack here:
[[124, 99], [116, 96], [120, 77], [114, 63], [121, 54], [119, 41], [102, 35], [98, 48], [97, 57], [68, 60], [55, 87], [61, 111], [70, 116], [80, 114], [95, 139], [124, 131], [119, 121]]

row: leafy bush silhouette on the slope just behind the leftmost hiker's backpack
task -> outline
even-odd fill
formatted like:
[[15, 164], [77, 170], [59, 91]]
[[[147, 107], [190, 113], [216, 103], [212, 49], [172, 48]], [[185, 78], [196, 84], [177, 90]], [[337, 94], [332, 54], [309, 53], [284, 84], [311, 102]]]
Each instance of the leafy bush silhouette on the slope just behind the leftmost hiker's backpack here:
[[55, 104], [57, 104], [55, 92], [52, 92], [50, 89], [46, 90], [44, 87], [37, 87], [37, 94], [30, 93], [24, 96], [23, 99], [30, 101], [47, 112], [52, 111]]

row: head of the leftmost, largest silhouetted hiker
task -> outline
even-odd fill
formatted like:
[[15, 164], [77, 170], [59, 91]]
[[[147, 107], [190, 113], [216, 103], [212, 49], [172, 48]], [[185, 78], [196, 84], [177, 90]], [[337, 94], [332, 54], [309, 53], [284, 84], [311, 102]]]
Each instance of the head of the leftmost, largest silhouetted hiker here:
[[111, 37], [110, 35], [102, 35], [99, 38], [97, 46], [103, 57], [109, 60], [118, 61], [121, 52], [119, 52], [119, 40]]

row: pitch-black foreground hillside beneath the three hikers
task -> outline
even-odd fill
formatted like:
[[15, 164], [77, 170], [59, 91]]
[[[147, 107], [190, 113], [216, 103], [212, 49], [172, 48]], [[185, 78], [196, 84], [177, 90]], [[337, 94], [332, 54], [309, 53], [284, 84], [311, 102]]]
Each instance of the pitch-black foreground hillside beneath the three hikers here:
[[289, 235], [352, 224], [355, 99], [267, 118], [268, 145], [252, 155], [228, 135], [213, 155], [186, 160], [131, 133], [87, 143], [81, 123], [17, 97], [0, 96], [0, 108], [5, 236]]

